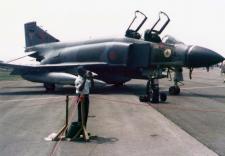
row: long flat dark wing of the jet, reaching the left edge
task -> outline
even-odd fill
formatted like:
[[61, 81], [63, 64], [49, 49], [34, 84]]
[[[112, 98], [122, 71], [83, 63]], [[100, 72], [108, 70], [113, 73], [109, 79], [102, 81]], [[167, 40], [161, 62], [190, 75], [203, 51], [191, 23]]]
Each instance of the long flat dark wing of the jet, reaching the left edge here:
[[18, 65], [0, 62], [0, 68], [11, 71], [13, 75], [21, 75], [27, 72], [51, 72], [51, 71], [67, 71], [75, 69], [78, 66], [91, 67], [107, 65], [105, 62], [76, 62], [76, 63], [59, 63], [45, 65]]

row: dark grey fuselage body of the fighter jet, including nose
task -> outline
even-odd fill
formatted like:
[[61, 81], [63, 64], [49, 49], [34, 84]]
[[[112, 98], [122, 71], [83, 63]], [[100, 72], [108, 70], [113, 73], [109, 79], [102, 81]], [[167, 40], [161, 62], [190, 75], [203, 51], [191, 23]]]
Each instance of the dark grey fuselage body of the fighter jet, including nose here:
[[[97, 79], [112, 84], [124, 83], [130, 79], [148, 79], [148, 74], [155, 69], [202, 67], [215, 63], [215, 58], [210, 58], [215, 52], [205, 48], [180, 43], [153, 43], [133, 38], [44, 43], [28, 47], [26, 51], [36, 51], [32, 57], [42, 65], [104, 62], [106, 65], [86, 68], [96, 73]], [[190, 57], [193, 55], [197, 56]], [[210, 60], [201, 63], [198, 59], [202, 57]], [[58, 72], [75, 74], [74, 70]]]

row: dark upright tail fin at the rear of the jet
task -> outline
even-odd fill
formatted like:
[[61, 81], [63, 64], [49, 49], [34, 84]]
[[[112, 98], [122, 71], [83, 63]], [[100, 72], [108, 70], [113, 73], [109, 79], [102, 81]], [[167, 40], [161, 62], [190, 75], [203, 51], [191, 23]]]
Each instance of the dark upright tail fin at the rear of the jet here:
[[24, 24], [26, 47], [41, 43], [59, 42], [58, 39], [48, 34], [46, 31], [36, 25], [36, 22]]

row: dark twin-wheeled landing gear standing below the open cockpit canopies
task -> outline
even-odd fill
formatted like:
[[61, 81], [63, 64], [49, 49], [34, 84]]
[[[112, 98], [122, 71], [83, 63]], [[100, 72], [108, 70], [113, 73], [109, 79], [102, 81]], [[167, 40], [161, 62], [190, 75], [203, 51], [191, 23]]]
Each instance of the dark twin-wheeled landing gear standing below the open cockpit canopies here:
[[152, 103], [159, 103], [160, 101], [165, 102], [166, 99], [166, 93], [159, 91], [159, 80], [156, 78], [151, 78], [148, 80], [146, 85], [146, 95], [139, 97], [141, 102]]

